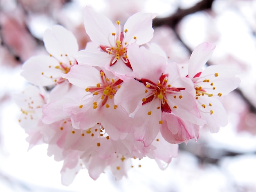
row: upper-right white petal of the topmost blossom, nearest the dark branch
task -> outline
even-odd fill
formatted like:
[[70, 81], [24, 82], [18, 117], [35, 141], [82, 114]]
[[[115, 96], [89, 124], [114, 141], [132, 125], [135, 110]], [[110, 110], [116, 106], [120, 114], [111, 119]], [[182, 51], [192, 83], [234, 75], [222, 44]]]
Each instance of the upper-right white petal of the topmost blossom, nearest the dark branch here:
[[[149, 42], [153, 38], [154, 29], [152, 28], [152, 20], [156, 14], [153, 13], [135, 13], [130, 16], [124, 24], [124, 42], [136, 42], [142, 45]], [[136, 41], [133, 37], [136, 37]]]

